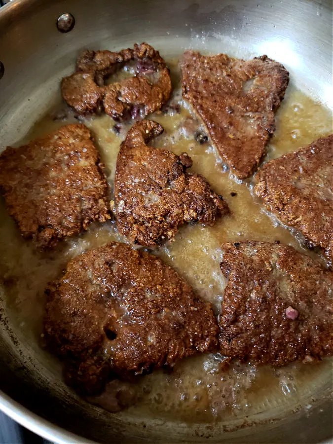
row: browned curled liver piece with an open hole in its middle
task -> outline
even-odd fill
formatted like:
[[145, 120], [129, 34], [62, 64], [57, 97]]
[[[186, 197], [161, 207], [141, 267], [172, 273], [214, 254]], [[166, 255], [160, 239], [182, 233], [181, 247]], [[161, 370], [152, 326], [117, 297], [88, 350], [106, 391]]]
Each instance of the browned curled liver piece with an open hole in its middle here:
[[[106, 79], [135, 61], [135, 76], [106, 85]], [[120, 52], [84, 51], [76, 71], [61, 83], [64, 100], [79, 114], [100, 112], [114, 120], [143, 117], [159, 110], [170, 97], [170, 72], [158, 51], [147, 43]]]

